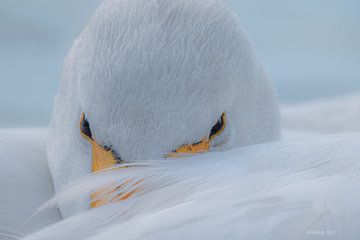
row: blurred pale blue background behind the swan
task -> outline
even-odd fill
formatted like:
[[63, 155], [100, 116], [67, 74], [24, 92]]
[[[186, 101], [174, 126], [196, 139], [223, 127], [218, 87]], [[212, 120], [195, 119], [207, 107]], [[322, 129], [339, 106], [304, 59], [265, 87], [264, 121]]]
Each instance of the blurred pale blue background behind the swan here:
[[[360, 92], [360, 1], [228, 1], [283, 104]], [[62, 61], [100, 2], [0, 1], [0, 127], [48, 124]]]

